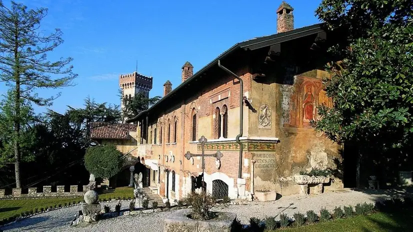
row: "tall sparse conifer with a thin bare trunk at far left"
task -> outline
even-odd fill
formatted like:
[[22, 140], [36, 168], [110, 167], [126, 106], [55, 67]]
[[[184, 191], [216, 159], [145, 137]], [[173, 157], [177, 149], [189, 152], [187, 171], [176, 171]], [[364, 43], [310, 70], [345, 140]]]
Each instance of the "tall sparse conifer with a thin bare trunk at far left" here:
[[[12, 134], [16, 187], [20, 184], [21, 134], [24, 119], [21, 115], [23, 104], [50, 105], [57, 97], [43, 98], [34, 90], [38, 88], [58, 88], [71, 85], [76, 77], [69, 65], [71, 58], [60, 58], [50, 62], [47, 54], [60, 45], [61, 31], [56, 29], [45, 34], [40, 29], [40, 21], [47, 9], [27, 9], [26, 6], [11, 1], [6, 7], [0, 1], [0, 80], [5, 82], [14, 108]], [[53, 76], [51, 76], [53, 75]], [[58, 76], [54, 78], [55, 76]], [[26, 100], [26, 102], [23, 102]]]

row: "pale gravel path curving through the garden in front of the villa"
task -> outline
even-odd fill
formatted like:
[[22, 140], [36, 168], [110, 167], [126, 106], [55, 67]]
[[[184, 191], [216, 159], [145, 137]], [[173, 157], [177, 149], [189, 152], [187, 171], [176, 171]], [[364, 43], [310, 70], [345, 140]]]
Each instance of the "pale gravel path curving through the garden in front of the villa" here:
[[[394, 195], [394, 194], [391, 194]], [[387, 198], [386, 193], [364, 193], [360, 191], [342, 190], [325, 192], [321, 195], [283, 196], [271, 202], [248, 202], [246, 204], [218, 206], [219, 211], [235, 212], [242, 223], [247, 224], [250, 217], [264, 218], [286, 213], [292, 216], [294, 212], [305, 213], [307, 210], [318, 212], [321, 207], [329, 211], [335, 206], [355, 205], [357, 203], [373, 203], [377, 199]], [[114, 208], [115, 202], [108, 203]], [[127, 208], [128, 201], [122, 202], [122, 208]], [[144, 231], [155, 232], [163, 230], [163, 218], [169, 212], [139, 214], [135, 216], [120, 216], [98, 221], [83, 228], [73, 228], [69, 224], [80, 206], [61, 208], [34, 215], [32, 217], [0, 227], [4, 231]]]

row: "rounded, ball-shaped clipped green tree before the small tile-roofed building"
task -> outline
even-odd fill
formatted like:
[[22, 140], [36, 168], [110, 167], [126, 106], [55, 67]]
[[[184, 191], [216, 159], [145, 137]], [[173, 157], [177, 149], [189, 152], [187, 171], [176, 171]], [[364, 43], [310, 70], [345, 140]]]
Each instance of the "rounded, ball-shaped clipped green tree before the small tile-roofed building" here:
[[88, 147], [84, 155], [86, 169], [96, 177], [110, 178], [119, 172], [123, 155], [112, 144]]

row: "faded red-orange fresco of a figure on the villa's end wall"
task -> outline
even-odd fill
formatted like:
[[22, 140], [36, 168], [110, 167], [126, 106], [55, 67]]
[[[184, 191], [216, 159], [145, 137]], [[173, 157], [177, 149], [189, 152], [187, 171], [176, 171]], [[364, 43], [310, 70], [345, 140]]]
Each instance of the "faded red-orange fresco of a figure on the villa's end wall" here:
[[318, 119], [317, 107], [332, 105], [322, 90], [322, 80], [302, 75], [296, 76], [294, 90], [287, 100], [289, 108], [284, 112], [285, 127], [311, 127], [310, 121]]

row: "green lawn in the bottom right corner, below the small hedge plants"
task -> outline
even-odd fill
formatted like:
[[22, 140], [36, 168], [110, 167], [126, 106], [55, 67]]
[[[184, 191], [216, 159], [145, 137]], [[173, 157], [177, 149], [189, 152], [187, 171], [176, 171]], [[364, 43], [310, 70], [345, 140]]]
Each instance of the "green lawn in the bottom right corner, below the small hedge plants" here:
[[312, 225], [277, 229], [276, 231], [413, 231], [413, 212], [408, 210], [403, 210], [398, 213], [379, 212], [371, 215], [319, 222]]

